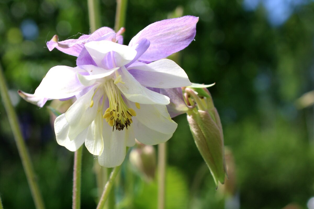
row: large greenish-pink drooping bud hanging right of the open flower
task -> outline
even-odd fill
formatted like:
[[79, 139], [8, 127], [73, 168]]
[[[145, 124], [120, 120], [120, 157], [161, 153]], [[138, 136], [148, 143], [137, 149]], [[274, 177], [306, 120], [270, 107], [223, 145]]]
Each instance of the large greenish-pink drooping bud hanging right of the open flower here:
[[187, 120], [195, 144], [218, 187], [218, 182], [224, 183], [226, 174], [222, 126], [212, 97], [206, 89], [208, 86], [193, 85], [184, 89], [185, 101], [191, 107], [187, 112]]

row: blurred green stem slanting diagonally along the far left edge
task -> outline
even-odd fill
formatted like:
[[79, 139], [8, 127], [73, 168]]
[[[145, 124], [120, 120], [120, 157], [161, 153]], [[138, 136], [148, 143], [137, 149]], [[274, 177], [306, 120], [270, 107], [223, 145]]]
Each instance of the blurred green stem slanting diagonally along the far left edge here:
[[33, 165], [30, 160], [30, 155], [27, 151], [21, 130], [19, 128], [18, 118], [16, 116], [16, 113], [14, 111], [14, 108], [12, 106], [11, 100], [8, 95], [8, 88], [6, 85], [6, 81], [4, 78], [1, 65], [0, 65], [0, 93], [1, 93], [5, 110], [7, 111], [7, 114], [8, 114], [9, 123], [12, 128], [12, 132], [14, 135], [14, 139], [15, 139], [18, 151], [19, 151], [20, 158], [22, 160], [26, 178], [27, 178], [28, 184], [30, 185], [30, 191], [32, 193], [32, 196], [35, 202], [35, 207], [37, 209], [43, 209], [45, 208], [45, 206], [41, 197], [41, 193], [39, 191], [39, 187], [37, 185], [37, 178], [33, 169]]

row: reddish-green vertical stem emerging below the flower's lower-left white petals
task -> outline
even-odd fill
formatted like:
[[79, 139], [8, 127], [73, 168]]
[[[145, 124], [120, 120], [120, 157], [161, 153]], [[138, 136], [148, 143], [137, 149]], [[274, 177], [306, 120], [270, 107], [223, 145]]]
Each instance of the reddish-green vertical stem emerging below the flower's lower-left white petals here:
[[83, 146], [74, 153], [72, 208], [81, 208], [81, 173]]

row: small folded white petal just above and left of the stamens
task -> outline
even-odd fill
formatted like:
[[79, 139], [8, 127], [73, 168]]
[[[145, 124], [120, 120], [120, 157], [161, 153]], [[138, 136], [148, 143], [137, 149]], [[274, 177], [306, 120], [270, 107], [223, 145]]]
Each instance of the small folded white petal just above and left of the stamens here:
[[105, 70], [103, 68], [100, 68], [94, 65], [82, 65], [81, 67], [83, 67], [85, 70], [87, 70], [90, 73], [90, 75], [86, 75], [86, 76], [80, 73], [77, 73], [78, 80], [84, 86], [91, 86], [97, 81], [97, 79], [110, 76], [112, 73], [114, 73], [116, 70], [119, 69], [118, 67], [116, 67], [116, 68], [112, 68], [111, 70]]

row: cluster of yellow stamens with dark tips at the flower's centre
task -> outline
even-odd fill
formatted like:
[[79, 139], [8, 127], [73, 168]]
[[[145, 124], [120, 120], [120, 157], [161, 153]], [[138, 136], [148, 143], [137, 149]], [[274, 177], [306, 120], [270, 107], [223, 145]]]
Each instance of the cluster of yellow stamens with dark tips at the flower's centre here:
[[112, 131], [115, 127], [116, 130], [121, 131], [131, 126], [131, 123], [133, 123], [132, 117], [136, 116], [136, 112], [132, 108], [127, 107], [114, 81], [106, 81], [104, 89], [109, 99], [109, 107], [106, 109], [103, 118], [112, 126]]

